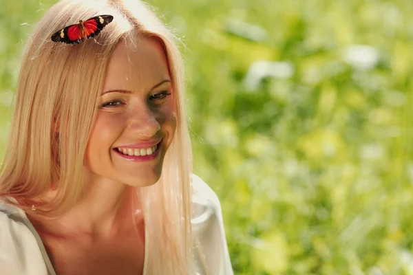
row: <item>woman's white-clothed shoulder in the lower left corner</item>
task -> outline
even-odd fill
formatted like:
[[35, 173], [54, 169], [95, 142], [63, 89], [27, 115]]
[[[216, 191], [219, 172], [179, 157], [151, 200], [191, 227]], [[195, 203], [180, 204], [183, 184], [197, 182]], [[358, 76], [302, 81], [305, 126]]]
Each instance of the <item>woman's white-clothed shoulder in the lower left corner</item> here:
[[[0, 274], [47, 274], [36, 238], [21, 210], [0, 202]], [[39, 273], [38, 273], [38, 272]]]

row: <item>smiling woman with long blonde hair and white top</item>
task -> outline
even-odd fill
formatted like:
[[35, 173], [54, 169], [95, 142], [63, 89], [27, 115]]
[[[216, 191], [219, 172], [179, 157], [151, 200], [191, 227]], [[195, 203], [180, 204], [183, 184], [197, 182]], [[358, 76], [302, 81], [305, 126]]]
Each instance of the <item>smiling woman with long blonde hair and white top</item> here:
[[[93, 39], [52, 41], [100, 14], [113, 21]], [[173, 36], [137, 0], [45, 14], [1, 166], [0, 274], [233, 274], [220, 201], [191, 173], [183, 82]]]

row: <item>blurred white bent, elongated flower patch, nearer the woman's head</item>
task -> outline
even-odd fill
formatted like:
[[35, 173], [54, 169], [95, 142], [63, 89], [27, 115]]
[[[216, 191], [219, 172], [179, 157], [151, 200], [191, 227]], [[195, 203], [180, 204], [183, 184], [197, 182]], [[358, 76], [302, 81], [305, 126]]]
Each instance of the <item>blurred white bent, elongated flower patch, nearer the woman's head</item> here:
[[290, 78], [295, 72], [291, 63], [284, 61], [255, 61], [248, 69], [244, 85], [249, 91], [260, 87], [263, 78]]

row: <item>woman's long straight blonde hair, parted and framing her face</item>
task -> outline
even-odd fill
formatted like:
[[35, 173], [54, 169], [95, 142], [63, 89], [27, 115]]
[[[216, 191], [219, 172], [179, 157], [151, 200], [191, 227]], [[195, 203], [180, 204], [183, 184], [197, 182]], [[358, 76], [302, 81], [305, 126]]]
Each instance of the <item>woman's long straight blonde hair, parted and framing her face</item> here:
[[[95, 39], [76, 46], [50, 40], [66, 25], [100, 14], [111, 14], [114, 21]], [[36, 26], [21, 63], [8, 145], [0, 167], [0, 197], [27, 201], [19, 208], [28, 211], [30, 201], [55, 189], [53, 201], [36, 206], [36, 212], [50, 216], [76, 203], [84, 186], [83, 159], [107, 63], [120, 41], [136, 36], [153, 37], [162, 44], [178, 121], [159, 181], [139, 188], [145, 217], [144, 273], [195, 274], [192, 159], [183, 110], [182, 59], [171, 32], [138, 0], [63, 0]]]

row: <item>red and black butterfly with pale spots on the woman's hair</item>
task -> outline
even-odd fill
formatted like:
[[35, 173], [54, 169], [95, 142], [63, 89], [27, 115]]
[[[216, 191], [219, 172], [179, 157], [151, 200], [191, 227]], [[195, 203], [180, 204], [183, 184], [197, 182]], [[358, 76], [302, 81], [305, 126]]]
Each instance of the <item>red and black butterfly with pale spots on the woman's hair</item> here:
[[78, 24], [67, 26], [52, 35], [52, 41], [75, 45], [100, 34], [114, 20], [112, 15], [98, 15]]

